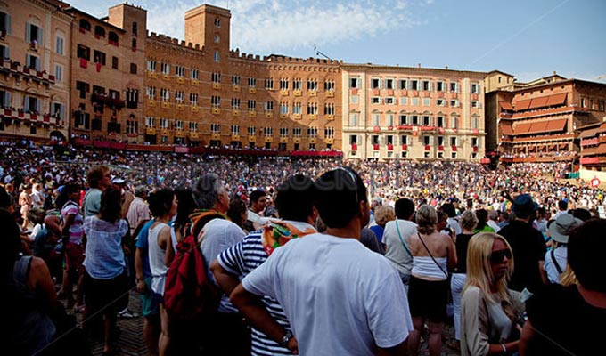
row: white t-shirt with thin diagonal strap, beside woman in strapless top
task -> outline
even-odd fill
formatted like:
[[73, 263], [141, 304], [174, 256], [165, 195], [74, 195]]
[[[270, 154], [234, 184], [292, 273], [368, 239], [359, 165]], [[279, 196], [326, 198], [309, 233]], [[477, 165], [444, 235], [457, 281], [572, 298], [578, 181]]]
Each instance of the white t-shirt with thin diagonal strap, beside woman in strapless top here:
[[[397, 224], [397, 225], [396, 225]], [[400, 235], [397, 234], [397, 228], [400, 229]], [[394, 220], [385, 224], [383, 231], [383, 244], [385, 244], [385, 258], [400, 273], [400, 277], [410, 276], [413, 269], [413, 255], [410, 254], [409, 237], [416, 233], [416, 223], [407, 220]], [[402, 242], [405, 247], [402, 246]]]

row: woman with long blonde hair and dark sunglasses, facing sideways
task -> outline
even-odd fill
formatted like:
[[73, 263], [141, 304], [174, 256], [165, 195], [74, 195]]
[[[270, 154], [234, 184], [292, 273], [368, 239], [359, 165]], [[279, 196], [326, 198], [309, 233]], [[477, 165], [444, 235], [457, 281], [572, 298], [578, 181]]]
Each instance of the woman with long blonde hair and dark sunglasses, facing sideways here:
[[524, 304], [507, 288], [513, 271], [512, 248], [504, 237], [481, 232], [467, 248], [467, 281], [461, 302], [461, 353], [517, 352]]

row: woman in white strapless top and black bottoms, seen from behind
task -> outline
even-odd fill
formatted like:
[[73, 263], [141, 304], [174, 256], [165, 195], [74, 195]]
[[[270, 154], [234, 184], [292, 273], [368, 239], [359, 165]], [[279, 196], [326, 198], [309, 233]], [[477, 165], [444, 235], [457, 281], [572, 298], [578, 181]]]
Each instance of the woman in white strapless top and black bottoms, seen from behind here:
[[434, 207], [419, 207], [416, 223], [417, 232], [409, 237], [413, 270], [408, 303], [414, 330], [408, 336], [408, 350], [411, 355], [419, 353], [421, 334], [427, 319], [430, 355], [439, 355], [448, 303], [448, 270], [456, 264], [455, 244], [448, 235], [437, 230], [438, 214]]

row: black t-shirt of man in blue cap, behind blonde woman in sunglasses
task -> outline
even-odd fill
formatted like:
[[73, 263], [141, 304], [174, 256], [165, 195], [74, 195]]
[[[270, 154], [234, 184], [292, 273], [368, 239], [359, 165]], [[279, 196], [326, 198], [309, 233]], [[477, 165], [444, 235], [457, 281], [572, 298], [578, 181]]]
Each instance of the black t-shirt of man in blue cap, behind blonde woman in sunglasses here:
[[513, 252], [513, 273], [508, 287], [521, 292], [525, 287], [534, 292], [543, 285], [538, 262], [545, 260], [545, 239], [543, 234], [529, 223], [515, 220], [499, 235], [509, 242]]

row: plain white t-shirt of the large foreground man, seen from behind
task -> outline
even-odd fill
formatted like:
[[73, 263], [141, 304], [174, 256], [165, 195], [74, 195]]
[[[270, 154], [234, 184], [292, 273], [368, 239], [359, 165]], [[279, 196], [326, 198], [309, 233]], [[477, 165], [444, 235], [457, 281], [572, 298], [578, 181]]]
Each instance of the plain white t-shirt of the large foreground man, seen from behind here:
[[373, 355], [375, 344], [396, 346], [413, 329], [397, 271], [356, 239], [293, 239], [242, 286], [283, 306], [301, 355]]

